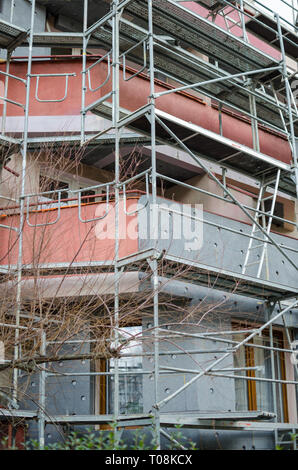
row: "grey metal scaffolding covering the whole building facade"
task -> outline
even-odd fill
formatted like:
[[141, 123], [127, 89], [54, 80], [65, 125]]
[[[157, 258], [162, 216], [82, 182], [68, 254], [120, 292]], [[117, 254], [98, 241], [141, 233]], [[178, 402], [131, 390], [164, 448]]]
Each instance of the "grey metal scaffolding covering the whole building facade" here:
[[[283, 0], [282, 0], [283, 1]], [[113, 380], [114, 380], [114, 404], [113, 414], [90, 414], [86, 416], [47, 416], [46, 414], [46, 383], [51, 375], [46, 369], [41, 369], [39, 373], [39, 411], [30, 412], [12, 408], [1, 410], [4, 417], [23, 418], [28, 420], [38, 420], [38, 433], [40, 447], [45, 445], [45, 426], [47, 423], [61, 424], [102, 424], [115, 421], [116, 431], [124, 427], [152, 426], [154, 423], [154, 435], [158, 448], [160, 438], [171, 439], [165, 428], [174, 427], [181, 424], [185, 427], [199, 429], [226, 429], [226, 430], [247, 430], [274, 432], [275, 442], [280, 442], [282, 432], [297, 432], [298, 425], [277, 422], [277, 390], [281, 384], [297, 385], [298, 376], [293, 380], [280, 380], [274, 374], [274, 352], [277, 348], [273, 346], [272, 326], [279, 320], [284, 321], [284, 329], [291, 344], [289, 328], [286, 325], [286, 314], [298, 307], [298, 292], [295, 286], [283, 285], [266, 277], [266, 259], [268, 248], [273, 253], [282, 255], [289, 269], [297, 275], [297, 263], [295, 256], [297, 249], [293, 246], [285, 246], [279, 243], [272, 236], [271, 226], [275, 220], [295, 225], [294, 222], [286, 220], [275, 214], [275, 205], [279, 191], [291, 197], [298, 194], [298, 163], [297, 163], [297, 126], [298, 111], [291, 89], [291, 81], [297, 76], [296, 71], [289, 69], [287, 57], [297, 57], [298, 39], [297, 27], [289, 23], [272, 12], [269, 8], [260, 9], [263, 5], [255, 1], [244, 0], [209, 2], [202, 0], [196, 2], [207, 8], [206, 17], [199, 13], [194, 13], [183, 6], [183, 2], [174, 0], [114, 0], [111, 4], [110, 12], [98, 19], [94, 24], [88, 24], [88, 0], [84, 0], [83, 30], [78, 32], [48, 32], [35, 33], [34, 13], [36, 0], [32, 0], [31, 26], [28, 31], [13, 25], [13, 10], [11, 22], [0, 21], [0, 45], [7, 51], [6, 71], [1, 72], [5, 76], [4, 110], [2, 119], [2, 133], [0, 142], [3, 147], [15, 145], [22, 154], [22, 187], [19, 197], [19, 226], [14, 228], [18, 234], [18, 262], [15, 266], [10, 266], [17, 280], [17, 291], [15, 298], [15, 320], [13, 324], [5, 325], [15, 330], [14, 363], [21, 359], [21, 351], [18, 346], [19, 332], [24, 326], [21, 324], [22, 311], [22, 278], [30, 272], [30, 266], [23, 264], [23, 227], [28, 224], [37, 227], [30, 221], [30, 202], [37, 194], [27, 194], [25, 190], [25, 178], [27, 171], [27, 154], [30, 148], [45, 142], [55, 140], [59, 142], [71, 141], [75, 145], [90, 146], [94, 143], [103, 142], [104, 139], [113, 141], [114, 145], [114, 168], [113, 181], [98, 185], [91, 189], [99, 191], [105, 189], [106, 210], [103, 215], [97, 218], [84, 219], [82, 216], [82, 191], [77, 191], [78, 216], [81, 223], [90, 223], [100, 218], [104, 218], [109, 211], [109, 193], [113, 194], [115, 204], [115, 256], [111, 262], [94, 261], [86, 263], [85, 268], [92, 271], [97, 269], [102, 272], [114, 272], [114, 344], [115, 348], [119, 344], [119, 299], [120, 299], [120, 279], [124, 272], [132, 270], [142, 270], [144, 263], [151, 271], [151, 288], [153, 296], [153, 325], [152, 342], [154, 363], [152, 370], [141, 371], [143, 375], [153, 375], [154, 396], [152, 398], [152, 412], [150, 414], [121, 414], [119, 408], [119, 384], [120, 376], [123, 372], [119, 368], [119, 359], [114, 359]], [[13, 2], [12, 2], [13, 5]], [[13, 8], [13, 7], [12, 7]], [[297, 16], [297, 8], [292, 7], [293, 17]], [[220, 17], [225, 22], [225, 27], [218, 26], [217, 18]], [[235, 19], [236, 18], [236, 19]], [[238, 19], [237, 19], [238, 18]], [[275, 47], [280, 58], [275, 59], [251, 44], [250, 33], [257, 34], [264, 41]], [[14, 76], [10, 73], [10, 61], [12, 52], [20, 45], [28, 46], [28, 65], [26, 79]], [[31, 85], [36, 79], [35, 99], [39, 98], [40, 78], [45, 75], [32, 73], [32, 60], [34, 47], [40, 46], [57, 47], [80, 47], [82, 48], [82, 88], [81, 88], [81, 134], [80, 136], [61, 137], [55, 136], [36, 138], [29, 133], [29, 115]], [[103, 54], [91, 66], [87, 64], [87, 51], [90, 48], [104, 48], [107, 52]], [[198, 55], [199, 54], [199, 55]], [[203, 56], [209, 59], [206, 61]], [[91, 70], [97, 65], [104, 63], [107, 68], [105, 80], [94, 85], [91, 79]], [[135, 64], [135, 71], [128, 70], [127, 64]], [[166, 91], [157, 90], [156, 74], [175, 83]], [[43, 100], [47, 102], [59, 102], [65, 100], [68, 95], [69, 81], [74, 74], [47, 74], [47, 77], [65, 77], [65, 94], [63, 98], [56, 100]], [[146, 96], [147, 104], [133, 111], [123, 109], [120, 106], [121, 90], [120, 82], [130, 82], [137, 77], [146, 75], [149, 79], [150, 89]], [[26, 90], [25, 103], [12, 102], [8, 99], [9, 80], [19, 80]], [[95, 92], [103, 89], [105, 85], [110, 85], [110, 91], [103, 94], [99, 99], [86, 104], [87, 90]], [[204, 97], [213, 100], [218, 107], [219, 133], [212, 132], [204, 127], [187, 122], [175, 115], [169, 114], [159, 109], [159, 99], [172, 93], [185, 91], [198, 92]], [[24, 129], [21, 139], [16, 139], [5, 132], [5, 119], [7, 103], [14, 104], [24, 110]], [[236, 140], [228, 139], [223, 135], [221, 113], [223, 108], [241, 114], [251, 124], [253, 148], [240, 144]], [[87, 113], [94, 113], [110, 120], [110, 126], [96, 134], [90, 135], [86, 132]], [[291, 164], [266, 155], [260, 150], [259, 129], [271, 129], [279, 135], [288, 139], [292, 154]], [[131, 182], [121, 180], [120, 177], [120, 149], [125, 139], [133, 140], [133, 133], [125, 134], [125, 129], [129, 128], [135, 135], [142, 136], [144, 142], [150, 146], [150, 162], [148, 168], [134, 179], [146, 179], [146, 204], [150, 200], [152, 217], [150, 219], [153, 246], [144, 250], [121, 257], [119, 253], [119, 219], [120, 200], [126, 196], [126, 187]], [[113, 134], [110, 132], [113, 131]], [[124, 140], [123, 140], [124, 139]], [[157, 170], [157, 145], [168, 145], [175, 149], [184, 151], [222, 190], [222, 196], [210, 193], [198, 187], [191, 186], [179, 178], [170, 178]], [[224, 169], [231, 169], [237, 173], [254, 179], [259, 184], [259, 194], [256, 208], [249, 207], [240, 202], [229, 189], [223, 175], [219, 179], [210, 170], [206, 162], [213, 162]], [[4, 162], [5, 163], [5, 162]], [[159, 220], [160, 220], [160, 200], [158, 197], [158, 187], [162, 182], [168, 182], [180, 187], [192, 189], [199, 193], [204, 193], [210, 197], [225, 201], [238, 207], [243, 214], [251, 221], [249, 232], [243, 233], [241, 230], [228, 226], [219, 226], [221, 230], [231, 231], [244, 239], [246, 252], [244, 262], [240, 272], [232, 269], [222, 269], [209, 266], [186, 256], [177, 256], [164, 251], [158, 243]], [[90, 189], [90, 188], [88, 188]], [[267, 195], [268, 190], [270, 196]], [[57, 223], [61, 214], [61, 191], [58, 194], [57, 218], [50, 222]], [[40, 193], [39, 196], [46, 196]], [[269, 210], [265, 208], [265, 201], [270, 203]], [[146, 206], [145, 204], [145, 206]], [[164, 209], [163, 209], [164, 210]], [[171, 209], [169, 209], [169, 212]], [[212, 225], [210, 221], [203, 221]], [[47, 222], [49, 224], [49, 222]], [[40, 225], [39, 225], [40, 226]], [[4, 225], [1, 225], [4, 227]], [[11, 227], [7, 226], [7, 229]], [[272, 253], [272, 252], [271, 252]], [[297, 256], [296, 256], [297, 259]], [[163, 269], [161, 270], [161, 266]], [[166, 268], [164, 267], [166, 266]], [[161, 276], [171, 279], [174, 276], [177, 266], [184, 269], [183, 281], [191, 285], [209, 286], [210, 280], [214, 289], [230, 292], [237, 286], [236, 293], [261, 299], [267, 309], [268, 318], [259, 327], [251, 330], [244, 339], [234, 340], [231, 337], [222, 337], [222, 332], [215, 331], [212, 335], [202, 333], [183, 333], [171, 329], [165, 330], [160, 324], [159, 297], [161, 292]], [[50, 275], [55, 272], [67, 272], [67, 264], [46, 264], [39, 265], [39, 269]], [[80, 265], [81, 267], [81, 265]], [[72, 265], [75, 270], [75, 263]], [[3, 271], [8, 269], [3, 266]], [[162, 272], [162, 275], [161, 275]], [[297, 278], [296, 278], [297, 279]], [[286, 303], [285, 303], [286, 302]], [[276, 313], [276, 307], [279, 307]], [[239, 349], [247, 345], [254, 348], [253, 338], [262, 334], [264, 330], [270, 333], [270, 346], [263, 346], [270, 354], [272, 365], [272, 377], [270, 379], [258, 378], [244, 375], [237, 375], [237, 369], [218, 368], [218, 366], [228, 357], [233, 357]], [[226, 334], [235, 335], [235, 332]], [[48, 343], [42, 328], [36, 328], [36, 334], [41, 335], [40, 355], [45, 356]], [[166, 335], [179, 337], [197, 337], [200, 339], [213, 339], [222, 341], [226, 345], [220, 350], [219, 357], [212, 361], [204, 369], [190, 370], [172, 367], [167, 368], [161, 363], [162, 351], [160, 342]], [[281, 348], [280, 351], [294, 353], [294, 349]], [[174, 351], [177, 353], [177, 351]], [[189, 354], [185, 351], [184, 354]], [[43, 363], [39, 363], [42, 368]], [[295, 366], [297, 374], [297, 366]], [[242, 369], [243, 370], [243, 369]], [[169, 393], [166, 398], [161, 398], [159, 382], [163, 374], [191, 374], [191, 379], [187, 380], [183, 386], [178, 387], [174, 392]], [[93, 375], [108, 376], [109, 372], [98, 372]], [[55, 375], [55, 374], [54, 374]], [[64, 374], [65, 375], [65, 374]], [[72, 374], [70, 374], [72, 375]], [[73, 375], [76, 375], [74, 372]], [[92, 375], [90, 372], [89, 376]], [[163, 413], [163, 407], [185, 391], [203, 376], [229, 377], [233, 380], [254, 380], [269, 382], [272, 385], [273, 409], [275, 413], [258, 412], [197, 412], [197, 413], [177, 413], [172, 416]], [[14, 406], [18, 401], [19, 369], [14, 367], [13, 374], [13, 394]], [[153, 421], [152, 421], [153, 420]], [[273, 420], [273, 421], [272, 421]], [[296, 441], [292, 442], [296, 448]], [[183, 446], [182, 446], [183, 447]]]

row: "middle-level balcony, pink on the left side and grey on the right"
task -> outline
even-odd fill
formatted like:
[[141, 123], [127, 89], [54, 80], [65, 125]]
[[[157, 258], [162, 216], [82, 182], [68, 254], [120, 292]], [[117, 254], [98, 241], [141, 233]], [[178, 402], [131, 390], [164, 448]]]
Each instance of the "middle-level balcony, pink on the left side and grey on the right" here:
[[[48, 295], [49, 292], [53, 295], [53, 289], [61, 279], [65, 294], [70, 295], [71, 289], [75, 289], [82, 295], [80, 279], [84, 282], [88, 279], [92, 284], [88, 288], [84, 285], [86, 294], [99, 282], [98, 273], [104, 273], [105, 292], [113, 292], [114, 195], [101, 195], [96, 202], [79, 200], [78, 203], [76, 199], [67, 203], [69, 205], [60, 201], [47, 208], [45, 204], [42, 208], [40, 204], [29, 204], [23, 227], [22, 260], [27, 282], [38, 272], [41, 278], [44, 275], [44, 278], [52, 279], [51, 287], [48, 284], [45, 287], [50, 289]], [[154, 211], [158, 215], [157, 227]], [[17, 266], [18, 234], [3, 226], [18, 227], [19, 214], [2, 215], [1, 224], [1, 264], [10, 272]], [[297, 290], [297, 274], [293, 266], [298, 262], [296, 239], [271, 234], [277, 246], [268, 241], [258, 279], [254, 265], [243, 273], [250, 233], [248, 223], [204, 211], [200, 205], [190, 206], [159, 197], [154, 208], [149, 193], [122, 193], [119, 202], [119, 266], [123, 269], [130, 266], [130, 269], [125, 272], [126, 277], [121, 278], [121, 290], [141, 289], [144, 262], [151, 256], [158, 256], [164, 259], [165, 276], [175, 275], [180, 266], [180, 278], [187, 282], [259, 298], [293, 296]], [[259, 243], [254, 253], [256, 260], [260, 258], [262, 245]], [[293, 264], [284, 254], [291, 258]], [[32, 279], [28, 284], [29, 291], [33, 286]]]

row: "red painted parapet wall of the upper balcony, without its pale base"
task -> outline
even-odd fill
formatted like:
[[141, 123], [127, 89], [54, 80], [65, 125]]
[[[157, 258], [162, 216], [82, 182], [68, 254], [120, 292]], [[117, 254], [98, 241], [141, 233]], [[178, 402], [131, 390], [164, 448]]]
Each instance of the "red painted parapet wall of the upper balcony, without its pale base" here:
[[[92, 62], [90, 61], [90, 64]], [[4, 69], [5, 65], [1, 65]], [[27, 72], [26, 62], [14, 62], [11, 73], [25, 77]], [[36, 78], [31, 83], [30, 116], [69, 116], [80, 115], [81, 110], [81, 61], [76, 59], [43, 60], [33, 63], [32, 73], [76, 73], [69, 79], [69, 91], [66, 100], [62, 103], [39, 103], [35, 99]], [[122, 75], [122, 74], [121, 74]], [[107, 76], [107, 64], [102, 62], [92, 70], [92, 86], [96, 87], [105, 81]], [[164, 91], [168, 86], [157, 82], [156, 91]], [[57, 99], [64, 95], [65, 78], [41, 78], [39, 97], [43, 99]], [[95, 93], [87, 92], [86, 105], [94, 102], [111, 90], [110, 81]], [[150, 94], [147, 77], [138, 76], [131, 81], [120, 81], [120, 105], [130, 111], [136, 110], [148, 103]], [[16, 80], [10, 80], [8, 97], [24, 103], [25, 87]], [[175, 93], [157, 99], [157, 107], [169, 114], [175, 115], [185, 121], [198, 124], [206, 129], [219, 133], [218, 111], [203, 103], [200, 99], [191, 97], [187, 93]], [[3, 105], [0, 105], [2, 114]], [[8, 105], [8, 116], [22, 116], [23, 110], [14, 105]], [[40, 129], [39, 129], [40, 131]], [[57, 132], [61, 128], [57, 129]], [[44, 128], [43, 132], [47, 132]], [[252, 147], [252, 133], [249, 122], [239, 119], [237, 116], [223, 113], [223, 135], [241, 144]], [[261, 152], [270, 155], [286, 163], [291, 161], [291, 152], [288, 142], [278, 134], [260, 129]]]

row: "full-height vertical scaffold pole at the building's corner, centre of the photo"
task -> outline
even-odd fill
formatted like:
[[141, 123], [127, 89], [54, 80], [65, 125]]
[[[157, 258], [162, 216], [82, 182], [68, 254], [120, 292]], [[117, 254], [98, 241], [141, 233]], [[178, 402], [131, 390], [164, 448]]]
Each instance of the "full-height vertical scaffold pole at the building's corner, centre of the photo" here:
[[[153, 2], [148, 0], [148, 47], [150, 75], [150, 119], [151, 119], [151, 185], [152, 185], [152, 219], [150, 220], [150, 236], [158, 239], [158, 207], [156, 188], [156, 132], [155, 132], [155, 82], [154, 82], [154, 37], [153, 37]], [[154, 403], [159, 401], [159, 312], [158, 312], [158, 261], [153, 260], [153, 318], [154, 318]], [[154, 430], [157, 449], [160, 449], [160, 416], [159, 409], [154, 408]]]

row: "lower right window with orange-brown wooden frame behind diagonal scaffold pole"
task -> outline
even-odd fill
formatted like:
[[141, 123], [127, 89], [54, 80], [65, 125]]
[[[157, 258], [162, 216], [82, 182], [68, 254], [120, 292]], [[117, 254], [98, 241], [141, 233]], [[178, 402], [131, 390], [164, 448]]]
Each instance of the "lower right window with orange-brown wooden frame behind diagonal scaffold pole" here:
[[[244, 334], [237, 335], [239, 341], [244, 338]], [[237, 372], [236, 375], [273, 378], [270, 350], [264, 349], [264, 346], [270, 346], [269, 332], [263, 331], [262, 336], [255, 336], [250, 344], [255, 347], [245, 345], [235, 353], [234, 367], [251, 369]], [[277, 330], [273, 334], [273, 347], [285, 347], [282, 333]], [[282, 351], [274, 351], [275, 378], [285, 380], [285, 370], [285, 354]], [[288, 422], [287, 389], [286, 385], [281, 383], [273, 385], [272, 382], [266, 381], [235, 379], [236, 410], [274, 412], [273, 387], [276, 393], [277, 419], [279, 422]]]

